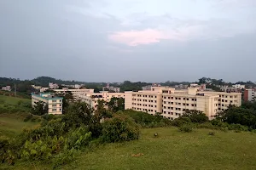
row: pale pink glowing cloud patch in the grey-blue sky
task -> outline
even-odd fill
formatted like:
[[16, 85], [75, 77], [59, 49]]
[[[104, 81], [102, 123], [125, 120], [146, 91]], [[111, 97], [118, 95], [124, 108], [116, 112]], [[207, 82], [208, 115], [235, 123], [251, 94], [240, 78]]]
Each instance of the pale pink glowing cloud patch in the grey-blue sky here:
[[169, 39], [162, 31], [146, 29], [143, 31], [119, 31], [108, 37], [113, 42], [125, 43], [129, 46], [160, 42], [161, 39]]

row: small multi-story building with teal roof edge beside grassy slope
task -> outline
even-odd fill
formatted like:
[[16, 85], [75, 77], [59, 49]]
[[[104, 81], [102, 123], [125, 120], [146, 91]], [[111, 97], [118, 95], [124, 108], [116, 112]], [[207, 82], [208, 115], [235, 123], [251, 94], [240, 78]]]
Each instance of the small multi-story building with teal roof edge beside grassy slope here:
[[62, 99], [50, 93], [32, 94], [32, 106], [41, 101], [44, 105], [48, 105], [48, 114], [60, 115], [62, 114]]

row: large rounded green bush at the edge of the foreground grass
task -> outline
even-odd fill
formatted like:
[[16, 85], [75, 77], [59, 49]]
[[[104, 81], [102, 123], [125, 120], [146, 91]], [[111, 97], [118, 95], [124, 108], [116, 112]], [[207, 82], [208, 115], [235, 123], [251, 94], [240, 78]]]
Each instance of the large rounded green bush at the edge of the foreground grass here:
[[139, 138], [139, 127], [129, 116], [114, 114], [102, 125], [102, 141], [121, 142]]

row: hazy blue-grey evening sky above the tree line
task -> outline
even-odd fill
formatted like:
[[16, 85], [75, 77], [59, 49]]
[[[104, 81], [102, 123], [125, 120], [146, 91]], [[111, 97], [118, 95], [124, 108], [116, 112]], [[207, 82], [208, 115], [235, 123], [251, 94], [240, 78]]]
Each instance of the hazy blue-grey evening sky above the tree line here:
[[1, 0], [0, 77], [256, 82], [255, 0]]

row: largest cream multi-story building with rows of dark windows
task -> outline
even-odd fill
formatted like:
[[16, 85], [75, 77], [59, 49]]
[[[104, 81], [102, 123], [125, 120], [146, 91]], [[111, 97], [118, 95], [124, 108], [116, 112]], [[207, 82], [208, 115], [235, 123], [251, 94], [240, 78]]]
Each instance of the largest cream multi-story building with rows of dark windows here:
[[240, 93], [199, 91], [199, 88], [175, 90], [169, 87], [152, 87], [150, 91], [125, 92], [125, 109], [157, 112], [162, 116], [175, 119], [186, 109], [203, 111], [212, 119], [218, 111], [229, 105], [241, 105]]

